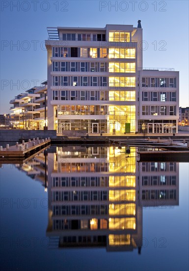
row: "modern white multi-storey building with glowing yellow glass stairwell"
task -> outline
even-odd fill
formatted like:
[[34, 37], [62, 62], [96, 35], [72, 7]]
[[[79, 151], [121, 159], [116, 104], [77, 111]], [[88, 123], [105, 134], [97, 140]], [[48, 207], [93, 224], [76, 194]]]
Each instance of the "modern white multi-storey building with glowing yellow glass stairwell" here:
[[179, 72], [143, 69], [140, 21], [48, 34], [49, 129], [177, 132]]

